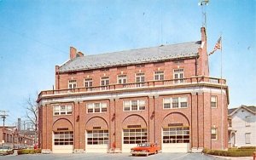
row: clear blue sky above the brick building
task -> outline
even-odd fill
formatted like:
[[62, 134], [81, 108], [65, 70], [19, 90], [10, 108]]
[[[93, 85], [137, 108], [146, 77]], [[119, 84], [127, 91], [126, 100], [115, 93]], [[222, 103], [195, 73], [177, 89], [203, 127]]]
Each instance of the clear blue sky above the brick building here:
[[[86, 54], [201, 40], [198, 0], [0, 0], [0, 110], [26, 116], [26, 100], [52, 89], [70, 46]], [[207, 50], [223, 38], [229, 108], [256, 106], [256, 1], [210, 0]], [[221, 52], [209, 57], [220, 77]], [[2, 120], [0, 121], [2, 125]]]

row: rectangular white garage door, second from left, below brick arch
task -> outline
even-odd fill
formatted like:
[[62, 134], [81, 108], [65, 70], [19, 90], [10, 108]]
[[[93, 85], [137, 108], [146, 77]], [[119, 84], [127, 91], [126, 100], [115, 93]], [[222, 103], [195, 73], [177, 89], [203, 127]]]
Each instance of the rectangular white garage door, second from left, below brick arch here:
[[85, 140], [86, 152], [108, 151], [108, 130], [87, 130]]

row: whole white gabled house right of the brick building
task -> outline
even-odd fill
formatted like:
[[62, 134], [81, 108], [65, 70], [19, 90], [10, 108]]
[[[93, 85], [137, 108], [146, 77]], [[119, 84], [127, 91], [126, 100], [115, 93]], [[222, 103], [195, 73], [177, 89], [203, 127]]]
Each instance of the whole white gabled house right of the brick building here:
[[229, 146], [256, 146], [256, 106], [229, 109]]

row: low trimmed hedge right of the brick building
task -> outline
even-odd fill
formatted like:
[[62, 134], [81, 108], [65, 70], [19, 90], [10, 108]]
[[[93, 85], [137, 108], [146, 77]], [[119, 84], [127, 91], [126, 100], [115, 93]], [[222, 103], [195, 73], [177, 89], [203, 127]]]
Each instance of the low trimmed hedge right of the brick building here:
[[211, 155], [216, 155], [216, 156], [225, 156], [225, 157], [251, 157], [253, 156], [253, 151], [255, 149], [236, 149], [232, 148], [229, 149], [228, 151], [222, 151], [222, 150], [209, 150], [209, 149], [204, 149], [203, 152], [206, 154], [211, 154]]

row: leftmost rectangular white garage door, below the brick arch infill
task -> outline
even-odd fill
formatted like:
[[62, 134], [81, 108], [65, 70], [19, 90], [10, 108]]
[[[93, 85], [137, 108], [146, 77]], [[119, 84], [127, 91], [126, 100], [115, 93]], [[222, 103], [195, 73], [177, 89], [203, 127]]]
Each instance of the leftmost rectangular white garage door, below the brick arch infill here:
[[53, 133], [53, 153], [73, 153], [73, 131]]

